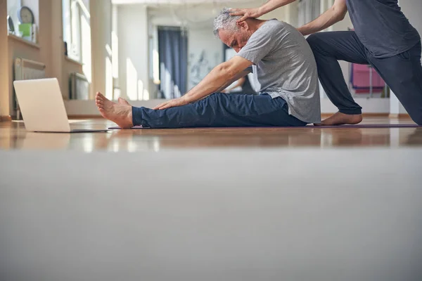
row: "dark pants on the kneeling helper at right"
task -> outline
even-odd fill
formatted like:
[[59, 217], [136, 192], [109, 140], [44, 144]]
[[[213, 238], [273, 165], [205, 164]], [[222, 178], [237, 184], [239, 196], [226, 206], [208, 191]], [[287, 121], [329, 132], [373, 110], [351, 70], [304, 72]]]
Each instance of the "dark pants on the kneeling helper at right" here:
[[421, 42], [390, 58], [374, 58], [353, 31], [320, 32], [307, 38], [315, 55], [319, 81], [340, 112], [361, 114], [341, 72], [338, 60], [372, 65], [395, 93], [411, 119], [422, 125]]

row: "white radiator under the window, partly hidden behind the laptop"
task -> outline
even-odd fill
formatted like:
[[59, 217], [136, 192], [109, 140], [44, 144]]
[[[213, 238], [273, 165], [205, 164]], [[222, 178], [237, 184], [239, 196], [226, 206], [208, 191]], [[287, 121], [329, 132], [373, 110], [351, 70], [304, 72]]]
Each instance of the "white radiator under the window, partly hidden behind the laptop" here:
[[[46, 77], [46, 65], [44, 65], [44, 63], [38, 63], [34, 60], [15, 58], [14, 68], [14, 80], [42, 79]], [[16, 115], [18, 119], [20, 119], [18, 99], [16, 98], [14, 91], [13, 93], [13, 109], [16, 110]]]

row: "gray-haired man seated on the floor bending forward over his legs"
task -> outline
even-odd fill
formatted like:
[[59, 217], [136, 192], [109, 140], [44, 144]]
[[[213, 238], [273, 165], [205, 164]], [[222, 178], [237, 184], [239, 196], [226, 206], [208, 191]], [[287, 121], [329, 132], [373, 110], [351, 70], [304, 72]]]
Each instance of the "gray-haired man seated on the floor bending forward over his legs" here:
[[[278, 20], [248, 19], [223, 9], [215, 18], [215, 35], [237, 55], [217, 65], [181, 98], [149, 109], [132, 107], [96, 94], [104, 118], [122, 128], [222, 126], [305, 126], [321, 122], [318, 74], [312, 50], [294, 27]], [[219, 93], [252, 70], [260, 95]]]

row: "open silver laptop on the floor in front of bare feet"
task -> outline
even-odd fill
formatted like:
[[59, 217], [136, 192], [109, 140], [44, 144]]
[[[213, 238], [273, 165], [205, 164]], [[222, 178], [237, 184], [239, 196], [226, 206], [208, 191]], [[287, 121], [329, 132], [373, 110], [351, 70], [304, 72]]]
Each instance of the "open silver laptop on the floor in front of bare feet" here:
[[13, 81], [27, 131], [82, 133], [108, 131], [70, 129], [68, 114], [56, 78]]

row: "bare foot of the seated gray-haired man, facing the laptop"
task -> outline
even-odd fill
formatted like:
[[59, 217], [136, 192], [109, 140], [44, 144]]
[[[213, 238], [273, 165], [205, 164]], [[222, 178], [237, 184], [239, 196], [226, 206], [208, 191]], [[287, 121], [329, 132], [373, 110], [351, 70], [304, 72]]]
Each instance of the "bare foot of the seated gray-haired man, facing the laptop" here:
[[132, 124], [132, 106], [126, 100], [124, 102], [120, 103], [119, 100], [119, 103], [113, 103], [99, 92], [95, 96], [96, 106], [104, 118], [115, 122], [122, 129], [129, 129], [134, 126]]

